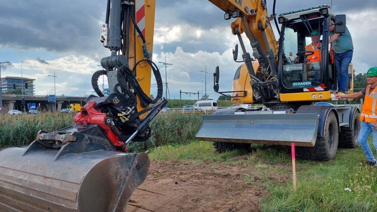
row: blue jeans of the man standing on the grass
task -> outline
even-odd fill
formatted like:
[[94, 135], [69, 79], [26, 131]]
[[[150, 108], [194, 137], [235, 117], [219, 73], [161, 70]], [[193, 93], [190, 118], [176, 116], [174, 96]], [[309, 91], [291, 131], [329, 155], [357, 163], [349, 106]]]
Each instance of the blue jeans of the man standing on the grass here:
[[375, 161], [375, 157], [373, 157], [373, 153], [371, 147], [369, 146], [367, 139], [369, 135], [372, 133], [372, 141], [373, 146], [377, 151], [377, 130], [373, 129], [375, 123], [368, 123], [365, 121], [361, 122], [360, 133], [357, 141], [359, 142], [361, 149], [363, 149], [365, 157], [367, 157], [368, 161]]

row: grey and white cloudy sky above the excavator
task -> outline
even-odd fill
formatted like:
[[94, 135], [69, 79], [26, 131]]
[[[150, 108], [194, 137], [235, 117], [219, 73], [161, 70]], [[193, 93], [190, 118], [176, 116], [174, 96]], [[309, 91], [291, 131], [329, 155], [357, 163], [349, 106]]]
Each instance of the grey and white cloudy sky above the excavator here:
[[[267, 1], [271, 13], [272, 0]], [[331, 4], [331, 0], [313, 2], [278, 0], [276, 12]], [[332, 4], [336, 14], [347, 15], [355, 47], [352, 62], [356, 72], [362, 73], [377, 66], [377, 2], [354, 2], [333, 0]], [[98, 41], [99, 28], [105, 22], [106, 0], [0, 0], [0, 5], [0, 61], [11, 62], [1, 65], [2, 77], [20, 77], [20, 62], [24, 61], [24, 77], [37, 79], [36, 95], [54, 93], [54, 80], [47, 76], [54, 71], [57, 95], [93, 94], [91, 75], [99, 69], [101, 58], [109, 55]], [[207, 93], [217, 98], [212, 89], [212, 73], [217, 65], [220, 90], [231, 89], [240, 64], [232, 58], [238, 41], [230, 31], [230, 23], [207, 0], [157, 0], [153, 60], [164, 61], [166, 56], [173, 64], [167, 67], [171, 98], [179, 99], [180, 89], [202, 95], [205, 76], [201, 71], [205, 67], [209, 72]], [[159, 65], [165, 79], [164, 66]]]

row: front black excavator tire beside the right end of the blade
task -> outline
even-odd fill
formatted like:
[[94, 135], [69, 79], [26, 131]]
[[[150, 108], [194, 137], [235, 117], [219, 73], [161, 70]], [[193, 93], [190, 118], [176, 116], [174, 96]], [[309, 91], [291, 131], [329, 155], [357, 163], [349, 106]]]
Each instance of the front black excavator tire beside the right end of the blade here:
[[324, 138], [317, 137], [314, 147], [297, 147], [297, 158], [310, 160], [334, 159], [338, 150], [338, 136], [338, 121], [334, 112], [330, 112], [325, 123]]

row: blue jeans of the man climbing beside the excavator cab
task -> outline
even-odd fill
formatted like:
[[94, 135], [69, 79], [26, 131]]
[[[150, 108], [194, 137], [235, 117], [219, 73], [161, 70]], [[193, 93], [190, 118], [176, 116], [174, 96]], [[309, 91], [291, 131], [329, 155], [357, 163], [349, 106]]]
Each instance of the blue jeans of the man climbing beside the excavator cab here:
[[348, 67], [352, 60], [353, 50], [335, 53], [335, 68], [338, 75], [338, 91], [346, 93], [348, 83]]

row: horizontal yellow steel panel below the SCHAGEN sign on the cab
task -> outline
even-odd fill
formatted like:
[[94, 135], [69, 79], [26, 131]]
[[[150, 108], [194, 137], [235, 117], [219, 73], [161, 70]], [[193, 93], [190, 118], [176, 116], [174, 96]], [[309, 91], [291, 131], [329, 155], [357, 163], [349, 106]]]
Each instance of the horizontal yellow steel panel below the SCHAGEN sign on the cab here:
[[280, 94], [281, 102], [319, 102], [324, 100], [331, 100], [330, 91]]

